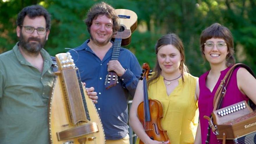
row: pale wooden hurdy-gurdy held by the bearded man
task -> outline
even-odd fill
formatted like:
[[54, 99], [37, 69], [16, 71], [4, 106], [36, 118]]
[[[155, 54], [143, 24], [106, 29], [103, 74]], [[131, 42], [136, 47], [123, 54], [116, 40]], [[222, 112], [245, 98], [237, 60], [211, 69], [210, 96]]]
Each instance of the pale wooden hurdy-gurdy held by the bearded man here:
[[49, 99], [49, 143], [104, 144], [105, 135], [93, 101], [77, 77], [70, 53], [56, 55], [58, 71]]

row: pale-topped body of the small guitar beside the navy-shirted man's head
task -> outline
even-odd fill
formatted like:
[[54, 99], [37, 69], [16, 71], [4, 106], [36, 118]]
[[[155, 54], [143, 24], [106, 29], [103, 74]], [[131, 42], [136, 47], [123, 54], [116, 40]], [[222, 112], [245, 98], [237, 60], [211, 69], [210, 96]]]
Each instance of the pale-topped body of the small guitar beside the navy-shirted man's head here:
[[[115, 9], [115, 13], [118, 15], [122, 27], [121, 29], [123, 29], [121, 45], [129, 45], [131, 43], [131, 33], [137, 28], [137, 14], [134, 11], [127, 9]], [[115, 36], [116, 35], [113, 36], [113, 41]]]

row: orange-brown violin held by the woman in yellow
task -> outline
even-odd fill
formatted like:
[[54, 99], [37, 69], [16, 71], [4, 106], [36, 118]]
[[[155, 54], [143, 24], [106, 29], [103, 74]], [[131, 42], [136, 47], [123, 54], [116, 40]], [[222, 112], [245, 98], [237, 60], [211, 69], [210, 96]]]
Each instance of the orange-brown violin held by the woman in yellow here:
[[[163, 107], [158, 100], [148, 99], [147, 79], [150, 74], [150, 67], [143, 64], [143, 97], [144, 100], [138, 105], [138, 118], [144, 126], [146, 134], [156, 141], [169, 141], [167, 132], [163, 130], [161, 118], [163, 118]], [[141, 140], [139, 144], [144, 144]]]

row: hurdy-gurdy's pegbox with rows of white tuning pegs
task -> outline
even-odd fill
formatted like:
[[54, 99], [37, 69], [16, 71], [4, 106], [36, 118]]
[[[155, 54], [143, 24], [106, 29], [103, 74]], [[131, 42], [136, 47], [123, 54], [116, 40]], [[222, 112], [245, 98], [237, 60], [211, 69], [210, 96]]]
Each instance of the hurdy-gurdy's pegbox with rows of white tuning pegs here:
[[69, 52], [55, 55], [59, 70], [75, 68], [74, 60]]

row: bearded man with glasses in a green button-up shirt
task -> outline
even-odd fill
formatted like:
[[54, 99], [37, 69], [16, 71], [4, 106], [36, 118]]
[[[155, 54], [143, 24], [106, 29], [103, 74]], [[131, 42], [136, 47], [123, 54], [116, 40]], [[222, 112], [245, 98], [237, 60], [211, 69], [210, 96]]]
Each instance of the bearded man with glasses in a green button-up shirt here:
[[[47, 108], [54, 76], [43, 47], [50, 22], [42, 6], [23, 8], [17, 17], [19, 42], [0, 54], [0, 144], [49, 143]], [[97, 99], [93, 89], [87, 95]]]

